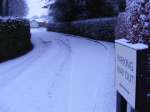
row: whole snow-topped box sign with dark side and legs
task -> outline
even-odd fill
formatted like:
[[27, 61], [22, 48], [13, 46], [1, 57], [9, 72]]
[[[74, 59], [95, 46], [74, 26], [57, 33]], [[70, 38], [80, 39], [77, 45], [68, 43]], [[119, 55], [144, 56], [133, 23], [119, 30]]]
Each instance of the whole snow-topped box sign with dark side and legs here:
[[150, 112], [150, 49], [125, 39], [115, 48], [117, 112]]

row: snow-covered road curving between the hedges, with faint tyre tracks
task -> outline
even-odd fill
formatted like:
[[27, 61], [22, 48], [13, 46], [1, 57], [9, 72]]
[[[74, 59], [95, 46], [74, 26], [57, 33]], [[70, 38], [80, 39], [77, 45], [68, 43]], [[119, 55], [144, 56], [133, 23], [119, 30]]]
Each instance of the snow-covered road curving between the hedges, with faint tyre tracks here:
[[32, 29], [34, 49], [0, 64], [0, 112], [115, 112], [114, 45]]

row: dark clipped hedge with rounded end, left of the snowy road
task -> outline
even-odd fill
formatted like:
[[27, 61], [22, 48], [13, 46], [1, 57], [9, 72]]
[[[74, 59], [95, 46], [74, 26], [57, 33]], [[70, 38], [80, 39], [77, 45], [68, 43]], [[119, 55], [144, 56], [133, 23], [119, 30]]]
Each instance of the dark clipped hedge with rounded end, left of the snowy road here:
[[30, 37], [28, 20], [0, 18], [0, 62], [31, 50]]

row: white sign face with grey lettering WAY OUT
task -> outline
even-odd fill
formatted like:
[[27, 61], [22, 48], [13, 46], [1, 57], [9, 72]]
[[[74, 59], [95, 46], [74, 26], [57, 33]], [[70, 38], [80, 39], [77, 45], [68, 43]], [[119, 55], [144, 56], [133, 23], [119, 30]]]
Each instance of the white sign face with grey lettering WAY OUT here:
[[116, 43], [116, 88], [135, 109], [137, 51]]

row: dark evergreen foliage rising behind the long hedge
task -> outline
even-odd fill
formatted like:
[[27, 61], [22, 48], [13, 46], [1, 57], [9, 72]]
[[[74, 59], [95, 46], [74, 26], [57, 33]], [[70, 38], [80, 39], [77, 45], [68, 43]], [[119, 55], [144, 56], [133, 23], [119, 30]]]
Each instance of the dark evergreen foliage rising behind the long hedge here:
[[55, 21], [73, 21], [97, 17], [114, 16], [116, 10], [110, 0], [56, 0], [50, 15]]

